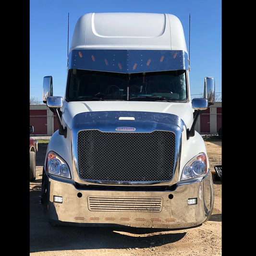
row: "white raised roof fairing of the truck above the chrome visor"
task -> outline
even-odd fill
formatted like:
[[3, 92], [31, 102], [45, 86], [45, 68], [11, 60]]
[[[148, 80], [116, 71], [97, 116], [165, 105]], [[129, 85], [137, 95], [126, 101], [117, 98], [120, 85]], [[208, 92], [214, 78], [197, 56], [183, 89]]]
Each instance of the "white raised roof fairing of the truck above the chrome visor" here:
[[161, 49], [187, 52], [183, 26], [172, 14], [87, 13], [75, 25], [73, 49]]

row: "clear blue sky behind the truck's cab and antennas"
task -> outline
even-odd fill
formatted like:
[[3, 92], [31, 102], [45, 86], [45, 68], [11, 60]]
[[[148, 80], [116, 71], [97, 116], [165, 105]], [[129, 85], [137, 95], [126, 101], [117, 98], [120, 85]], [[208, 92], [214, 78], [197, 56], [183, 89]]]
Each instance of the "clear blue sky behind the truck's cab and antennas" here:
[[[69, 46], [76, 21], [88, 12], [154, 12], [176, 15], [183, 24], [187, 49], [190, 34], [192, 98], [212, 76], [221, 92], [221, 0], [30, 0], [30, 98], [42, 101], [43, 77], [53, 77], [53, 95], [64, 98]], [[219, 94], [218, 94], [219, 95]]]

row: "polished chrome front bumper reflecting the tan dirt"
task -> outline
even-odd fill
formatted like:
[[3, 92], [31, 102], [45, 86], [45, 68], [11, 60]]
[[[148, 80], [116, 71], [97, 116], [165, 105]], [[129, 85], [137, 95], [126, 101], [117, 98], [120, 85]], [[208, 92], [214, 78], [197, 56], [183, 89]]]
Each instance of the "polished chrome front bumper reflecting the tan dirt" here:
[[[102, 187], [102, 186], [101, 186]], [[62, 203], [53, 201], [61, 196]], [[176, 186], [173, 191], [110, 191], [78, 189], [72, 183], [54, 180], [43, 171], [42, 208], [52, 223], [74, 226], [130, 226], [143, 228], [185, 229], [207, 221], [212, 213], [214, 190], [211, 175], [197, 183]], [[161, 201], [158, 211], [124, 210], [89, 206], [89, 198], [157, 198]], [[196, 205], [188, 199], [197, 198]], [[133, 201], [134, 202], [134, 201]], [[133, 204], [133, 203], [131, 203]]]

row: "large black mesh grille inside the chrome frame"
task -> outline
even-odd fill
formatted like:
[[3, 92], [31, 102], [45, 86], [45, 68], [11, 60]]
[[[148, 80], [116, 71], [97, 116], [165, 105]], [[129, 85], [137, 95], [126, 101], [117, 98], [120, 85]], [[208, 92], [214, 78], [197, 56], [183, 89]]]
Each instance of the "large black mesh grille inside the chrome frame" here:
[[175, 134], [106, 133], [83, 130], [77, 137], [78, 173], [82, 180], [170, 181]]

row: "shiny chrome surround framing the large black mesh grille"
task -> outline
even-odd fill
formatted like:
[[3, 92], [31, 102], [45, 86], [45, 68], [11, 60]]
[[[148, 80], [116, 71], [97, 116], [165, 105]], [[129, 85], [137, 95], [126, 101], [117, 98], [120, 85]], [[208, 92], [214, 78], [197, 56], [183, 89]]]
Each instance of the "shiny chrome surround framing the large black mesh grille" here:
[[[119, 117], [134, 117], [134, 121], [119, 120]], [[172, 175], [169, 176], [170, 180], [160, 180], [157, 181], [146, 181], [143, 178], [139, 180], [133, 179], [134, 181], [118, 181], [117, 179], [113, 181], [109, 180], [98, 180], [98, 179], [83, 179], [85, 177], [80, 177], [79, 171], [79, 156], [78, 151], [79, 139], [78, 134], [82, 131], [97, 131], [100, 134], [124, 134], [123, 131], [116, 131], [117, 127], [134, 127], [135, 132], [125, 132], [128, 134], [137, 134], [144, 136], [145, 134], [152, 134], [155, 131], [160, 132], [161, 134], [172, 134], [175, 137], [174, 154], [173, 154], [173, 166], [172, 166]], [[98, 185], [125, 185], [125, 186], [148, 186], [148, 185], [172, 185], [178, 182], [179, 176], [179, 165], [180, 165], [180, 155], [181, 155], [181, 144], [182, 144], [182, 132], [183, 132], [183, 122], [182, 120], [172, 114], [168, 113], [155, 113], [155, 112], [139, 112], [139, 111], [98, 111], [98, 112], [83, 112], [74, 116], [71, 124], [71, 136], [72, 136], [72, 158], [73, 158], [73, 167], [72, 167], [72, 177], [74, 182], [79, 184], [98, 184]], [[93, 133], [94, 133], [93, 132]], [[110, 135], [109, 134], [109, 135]], [[154, 134], [154, 133], [153, 133]], [[88, 136], [88, 135], [87, 135]], [[90, 136], [90, 135], [89, 135]], [[118, 137], [118, 136], [117, 136]], [[93, 144], [90, 144], [93, 146]], [[88, 147], [88, 146], [87, 146]], [[130, 147], [131, 148], [131, 147]], [[106, 152], [106, 150], [105, 150]], [[173, 152], [172, 152], [173, 153]], [[79, 156], [79, 157], [78, 157]], [[89, 156], [87, 155], [87, 159]], [[127, 160], [127, 158], [126, 158]], [[132, 160], [132, 159], [131, 159]], [[95, 161], [95, 160], [94, 160]], [[137, 160], [137, 163], [139, 161]], [[160, 168], [161, 169], [161, 168]], [[92, 169], [91, 169], [92, 170]], [[135, 181], [136, 180], [136, 181]]]

